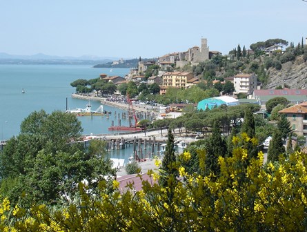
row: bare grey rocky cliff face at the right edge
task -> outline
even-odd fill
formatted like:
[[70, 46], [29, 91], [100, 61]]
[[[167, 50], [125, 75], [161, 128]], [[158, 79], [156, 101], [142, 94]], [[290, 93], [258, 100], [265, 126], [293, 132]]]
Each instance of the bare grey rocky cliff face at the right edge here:
[[307, 88], [307, 61], [303, 57], [297, 57], [295, 61], [282, 64], [281, 70], [268, 69], [268, 83], [264, 88], [275, 88], [286, 84], [290, 88]]

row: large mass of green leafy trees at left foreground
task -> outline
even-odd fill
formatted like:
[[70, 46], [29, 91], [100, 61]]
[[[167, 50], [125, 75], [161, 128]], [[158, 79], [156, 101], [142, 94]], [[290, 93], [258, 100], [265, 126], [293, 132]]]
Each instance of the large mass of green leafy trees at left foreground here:
[[57, 204], [73, 199], [81, 181], [95, 191], [98, 182], [115, 171], [105, 158], [105, 142], [93, 140], [86, 148], [79, 140], [81, 131], [75, 115], [31, 113], [21, 123], [21, 133], [0, 153], [1, 195], [23, 205]]

